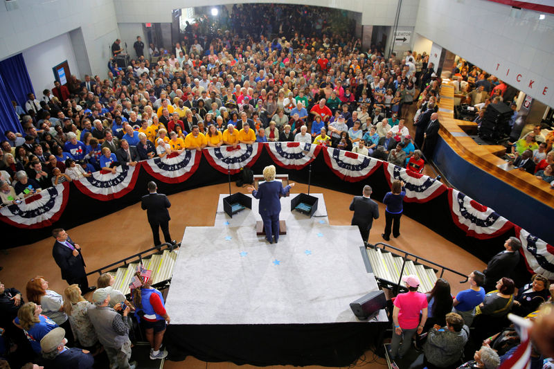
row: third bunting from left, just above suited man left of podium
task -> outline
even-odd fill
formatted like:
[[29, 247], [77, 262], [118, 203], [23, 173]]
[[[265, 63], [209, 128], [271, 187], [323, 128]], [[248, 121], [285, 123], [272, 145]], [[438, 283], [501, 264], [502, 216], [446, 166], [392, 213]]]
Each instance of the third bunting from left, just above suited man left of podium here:
[[152, 158], [143, 161], [143, 168], [152, 177], [165, 183], [186, 181], [198, 169], [202, 153], [197, 150], [185, 150], [181, 154], [166, 158]]

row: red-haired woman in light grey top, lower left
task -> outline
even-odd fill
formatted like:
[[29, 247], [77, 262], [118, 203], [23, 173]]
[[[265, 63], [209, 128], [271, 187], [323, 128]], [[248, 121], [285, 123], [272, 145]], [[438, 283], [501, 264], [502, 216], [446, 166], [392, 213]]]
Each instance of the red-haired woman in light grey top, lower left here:
[[30, 302], [40, 305], [44, 315], [64, 328], [68, 345], [73, 346], [73, 333], [67, 314], [64, 312], [64, 298], [62, 295], [48, 289], [48, 281], [42, 276], [31, 278], [27, 282], [26, 292]]

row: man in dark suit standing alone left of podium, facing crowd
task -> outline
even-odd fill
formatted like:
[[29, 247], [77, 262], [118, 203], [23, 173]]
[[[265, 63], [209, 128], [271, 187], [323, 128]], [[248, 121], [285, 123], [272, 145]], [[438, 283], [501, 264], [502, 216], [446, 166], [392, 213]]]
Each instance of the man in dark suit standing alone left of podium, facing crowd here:
[[150, 223], [150, 228], [152, 228], [152, 235], [154, 236], [154, 246], [159, 246], [160, 241], [160, 231], [163, 233], [163, 239], [170, 244], [175, 244], [175, 240], [171, 240], [169, 234], [169, 211], [171, 203], [166, 195], [157, 193], [158, 186], [155, 182], [148, 182], [148, 195], [143, 196], [141, 207], [143, 210], [146, 210], [146, 215], [148, 216], [148, 223]]

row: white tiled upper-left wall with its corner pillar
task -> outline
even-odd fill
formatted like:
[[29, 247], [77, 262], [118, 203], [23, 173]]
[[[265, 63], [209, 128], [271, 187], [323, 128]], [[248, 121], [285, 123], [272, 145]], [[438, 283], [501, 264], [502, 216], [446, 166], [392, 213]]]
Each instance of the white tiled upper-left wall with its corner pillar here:
[[80, 27], [91, 72], [107, 75], [118, 37], [114, 0], [17, 0], [17, 7], [0, 6], [0, 60]]

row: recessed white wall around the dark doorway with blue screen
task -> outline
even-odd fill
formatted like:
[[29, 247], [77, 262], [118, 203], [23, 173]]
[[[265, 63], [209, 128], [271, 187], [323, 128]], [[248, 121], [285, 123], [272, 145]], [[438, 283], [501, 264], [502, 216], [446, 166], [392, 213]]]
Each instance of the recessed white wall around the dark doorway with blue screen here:
[[42, 98], [44, 89], [53, 89], [54, 73], [52, 68], [57, 64], [67, 60], [71, 74], [80, 75], [69, 33], [64, 33], [24, 50], [23, 58], [29, 72], [30, 82], [33, 83], [35, 89], [35, 96], [39, 100]]

